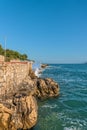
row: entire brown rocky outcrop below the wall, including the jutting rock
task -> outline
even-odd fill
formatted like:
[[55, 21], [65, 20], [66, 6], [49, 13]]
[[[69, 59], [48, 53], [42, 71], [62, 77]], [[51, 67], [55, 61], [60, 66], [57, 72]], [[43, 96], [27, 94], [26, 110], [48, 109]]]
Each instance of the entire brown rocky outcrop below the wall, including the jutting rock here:
[[12, 87], [5, 96], [0, 95], [0, 130], [32, 128], [38, 116], [36, 98], [59, 95], [59, 86], [55, 81], [37, 78], [33, 73], [31, 75], [18, 86]]

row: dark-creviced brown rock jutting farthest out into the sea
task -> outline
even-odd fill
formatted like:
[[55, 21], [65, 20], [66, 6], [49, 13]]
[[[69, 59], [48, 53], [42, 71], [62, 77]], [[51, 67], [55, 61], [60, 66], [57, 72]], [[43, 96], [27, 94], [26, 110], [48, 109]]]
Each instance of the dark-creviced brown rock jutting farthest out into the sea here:
[[48, 97], [56, 97], [59, 95], [59, 86], [58, 84], [50, 79], [41, 79], [38, 78], [36, 80], [36, 97], [39, 99], [48, 98]]

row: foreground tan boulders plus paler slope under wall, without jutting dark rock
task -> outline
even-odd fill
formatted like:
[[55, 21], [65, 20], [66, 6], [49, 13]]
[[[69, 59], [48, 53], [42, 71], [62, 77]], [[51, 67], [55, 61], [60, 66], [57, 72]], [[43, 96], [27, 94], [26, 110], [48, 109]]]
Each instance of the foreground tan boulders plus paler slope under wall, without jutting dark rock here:
[[0, 95], [0, 130], [27, 130], [36, 124], [38, 107], [33, 96], [35, 91], [35, 82], [27, 76], [6, 96]]

